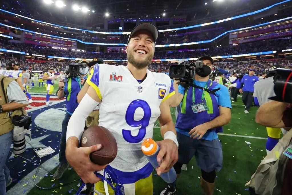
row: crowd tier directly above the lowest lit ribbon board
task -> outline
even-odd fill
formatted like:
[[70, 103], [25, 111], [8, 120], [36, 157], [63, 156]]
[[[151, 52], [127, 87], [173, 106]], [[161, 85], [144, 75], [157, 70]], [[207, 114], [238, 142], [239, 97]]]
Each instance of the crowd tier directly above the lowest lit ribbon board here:
[[[1, 40], [1, 39], [0, 39]], [[0, 48], [10, 49], [15, 51], [24, 51], [29, 54], [69, 57], [69, 58], [102, 58], [105, 60], [125, 60], [126, 53], [92, 53], [88, 51], [72, 51], [70, 49], [53, 49], [49, 47], [36, 46], [32, 44], [16, 44], [8, 41], [1, 40]], [[283, 49], [291, 49], [291, 37], [270, 39], [260, 42], [250, 42], [238, 45], [226, 45], [210, 47], [204, 51], [156, 51], [154, 59], [181, 59], [181, 58], [196, 58], [202, 55], [209, 56], [226, 56], [235, 54], [249, 54], [254, 52], [263, 51], [281, 51]]]

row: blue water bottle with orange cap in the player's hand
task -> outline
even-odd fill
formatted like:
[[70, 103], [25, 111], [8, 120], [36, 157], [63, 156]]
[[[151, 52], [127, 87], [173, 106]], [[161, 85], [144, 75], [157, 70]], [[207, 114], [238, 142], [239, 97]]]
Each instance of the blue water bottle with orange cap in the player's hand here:
[[[151, 165], [155, 169], [158, 168], [159, 164], [157, 162], [157, 155], [160, 147], [157, 143], [153, 139], [147, 138], [143, 141], [141, 148]], [[161, 173], [160, 177], [167, 183], [173, 183], [176, 180], [176, 172], [172, 167], [167, 173]]]

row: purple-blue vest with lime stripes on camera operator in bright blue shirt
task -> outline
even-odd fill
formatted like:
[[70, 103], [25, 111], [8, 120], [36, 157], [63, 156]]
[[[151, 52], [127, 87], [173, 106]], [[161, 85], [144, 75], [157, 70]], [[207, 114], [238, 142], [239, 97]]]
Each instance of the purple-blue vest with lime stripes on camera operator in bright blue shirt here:
[[[217, 85], [217, 82], [208, 80], [207, 89], [213, 90]], [[195, 88], [195, 104], [201, 103], [202, 94], [203, 90]], [[176, 119], [175, 127], [188, 133], [194, 127], [205, 122], [209, 122], [220, 115], [219, 106], [215, 95], [205, 92], [204, 102], [206, 102], [209, 110], [195, 114], [191, 108], [193, 104], [192, 86], [189, 87], [189, 89], [185, 92], [181, 104], [181, 109], [178, 113], [178, 118]], [[215, 131], [216, 133], [223, 132], [223, 127], [216, 127], [214, 129], [208, 130], [205, 135], [207, 136], [211, 131]]]

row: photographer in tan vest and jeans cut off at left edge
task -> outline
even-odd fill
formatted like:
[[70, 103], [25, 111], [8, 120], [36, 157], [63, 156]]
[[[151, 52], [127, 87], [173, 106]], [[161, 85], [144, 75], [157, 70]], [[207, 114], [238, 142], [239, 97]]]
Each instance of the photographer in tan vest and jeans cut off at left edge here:
[[[6, 159], [13, 138], [11, 117], [22, 115], [21, 109], [28, 106], [25, 94], [22, 92], [15, 78], [0, 74], [0, 194], [6, 194], [6, 187], [11, 184], [9, 169], [6, 166]], [[8, 102], [8, 103], [6, 103]], [[26, 113], [23, 110], [24, 113]]]

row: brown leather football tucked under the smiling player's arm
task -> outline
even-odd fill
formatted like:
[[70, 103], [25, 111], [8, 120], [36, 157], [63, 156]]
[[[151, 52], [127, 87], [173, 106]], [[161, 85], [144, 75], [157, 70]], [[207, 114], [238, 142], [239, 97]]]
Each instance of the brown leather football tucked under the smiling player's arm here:
[[90, 154], [90, 160], [97, 165], [109, 164], [116, 158], [118, 152], [117, 141], [113, 134], [105, 127], [92, 126], [85, 130], [81, 137], [81, 147], [101, 144], [101, 149]]

